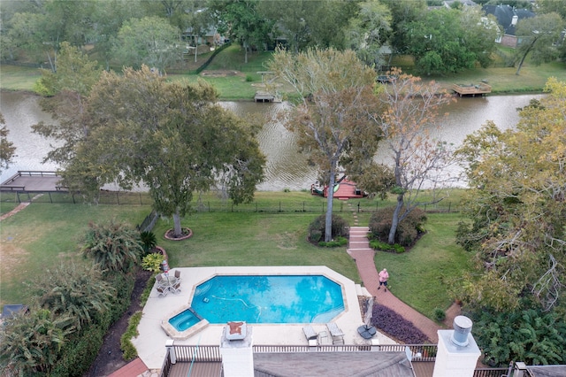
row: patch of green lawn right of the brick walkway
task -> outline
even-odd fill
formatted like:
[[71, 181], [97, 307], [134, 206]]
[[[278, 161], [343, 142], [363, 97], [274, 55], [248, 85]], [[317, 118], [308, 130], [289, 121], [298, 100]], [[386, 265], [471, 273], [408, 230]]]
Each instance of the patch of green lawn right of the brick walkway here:
[[378, 271], [386, 268], [395, 296], [429, 318], [435, 308], [446, 310], [454, 301], [449, 284], [470, 268], [470, 254], [455, 244], [459, 213], [427, 215], [427, 230], [412, 249], [402, 254], [378, 251]]

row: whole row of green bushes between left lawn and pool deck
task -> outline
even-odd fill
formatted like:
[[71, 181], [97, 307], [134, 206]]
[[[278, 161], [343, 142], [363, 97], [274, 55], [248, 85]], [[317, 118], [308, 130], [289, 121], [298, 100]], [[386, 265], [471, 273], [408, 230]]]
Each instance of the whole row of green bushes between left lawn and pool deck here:
[[[91, 227], [88, 235], [97, 229]], [[61, 265], [38, 278], [34, 286], [38, 306], [32, 306], [29, 314], [15, 316], [0, 327], [0, 338], [10, 339], [0, 342], [0, 359], [4, 365], [24, 375], [64, 377], [88, 372], [104, 335], [131, 303], [136, 268], [126, 265], [138, 260], [132, 260], [131, 254], [137, 255], [141, 249], [137, 239], [125, 242], [132, 235], [128, 229], [111, 230], [116, 232], [103, 236], [98, 233], [88, 239], [107, 245], [98, 249], [96, 255], [86, 254], [93, 257], [91, 266]], [[111, 245], [112, 242], [115, 244]], [[111, 273], [102, 270], [110, 265], [119, 268]], [[40, 327], [30, 326], [34, 323], [50, 329], [43, 334], [38, 331]]]

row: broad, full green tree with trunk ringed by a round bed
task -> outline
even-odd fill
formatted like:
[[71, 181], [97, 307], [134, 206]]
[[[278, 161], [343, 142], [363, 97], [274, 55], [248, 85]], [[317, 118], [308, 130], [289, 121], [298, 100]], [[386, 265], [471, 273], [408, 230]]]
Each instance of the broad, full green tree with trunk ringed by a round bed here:
[[264, 177], [256, 127], [218, 105], [203, 82], [167, 82], [145, 65], [103, 73], [84, 121], [92, 132], [77, 144], [65, 182], [95, 195], [112, 181], [142, 183], [156, 210], [173, 217], [175, 236], [194, 191], [220, 185], [239, 204], [253, 199]]

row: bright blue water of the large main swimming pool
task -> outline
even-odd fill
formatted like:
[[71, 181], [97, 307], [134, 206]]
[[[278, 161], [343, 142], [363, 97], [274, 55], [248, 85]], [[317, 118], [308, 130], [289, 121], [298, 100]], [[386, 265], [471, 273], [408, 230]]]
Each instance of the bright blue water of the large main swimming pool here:
[[322, 275], [215, 276], [191, 306], [210, 323], [325, 323], [344, 310], [340, 285]]

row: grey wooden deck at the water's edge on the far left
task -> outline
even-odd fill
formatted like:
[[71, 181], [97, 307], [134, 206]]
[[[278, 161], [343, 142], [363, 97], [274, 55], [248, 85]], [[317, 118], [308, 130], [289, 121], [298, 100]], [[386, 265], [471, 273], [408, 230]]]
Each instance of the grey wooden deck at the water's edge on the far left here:
[[0, 184], [0, 191], [60, 192], [67, 188], [60, 186], [62, 177], [56, 172], [19, 171]]

